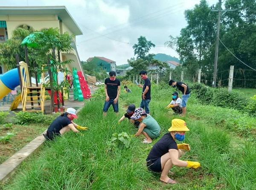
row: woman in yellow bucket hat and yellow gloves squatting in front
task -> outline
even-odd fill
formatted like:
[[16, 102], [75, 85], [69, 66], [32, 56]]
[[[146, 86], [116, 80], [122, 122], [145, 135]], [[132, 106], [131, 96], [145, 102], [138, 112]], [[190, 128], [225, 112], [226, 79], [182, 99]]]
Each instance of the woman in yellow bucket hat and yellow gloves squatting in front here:
[[169, 170], [171, 170], [173, 165], [196, 169], [200, 167], [200, 163], [179, 159], [182, 154], [181, 149], [190, 150], [189, 144], [177, 145], [175, 142], [175, 140], [183, 141], [186, 131], [189, 131], [186, 122], [182, 119], [172, 119], [172, 126], [168, 130], [170, 133], [163, 135], [152, 147], [146, 161], [149, 170], [161, 172], [160, 181], [167, 184], [175, 184], [176, 181], [168, 177]]

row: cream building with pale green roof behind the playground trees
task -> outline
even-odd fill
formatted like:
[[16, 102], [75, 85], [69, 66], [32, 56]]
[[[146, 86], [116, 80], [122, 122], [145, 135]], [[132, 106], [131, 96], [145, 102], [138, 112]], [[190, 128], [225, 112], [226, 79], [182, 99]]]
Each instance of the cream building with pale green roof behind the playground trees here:
[[[32, 27], [36, 31], [45, 28], [58, 28], [60, 33], [68, 32], [74, 35], [73, 51], [61, 53], [62, 61], [73, 60], [67, 68], [82, 71], [81, 62], [76, 49], [76, 36], [82, 31], [71, 17], [65, 6], [37, 6], [37, 7], [0, 7], [0, 43], [12, 37], [12, 32], [22, 26]], [[4, 63], [0, 63], [3, 73], [6, 72]]]

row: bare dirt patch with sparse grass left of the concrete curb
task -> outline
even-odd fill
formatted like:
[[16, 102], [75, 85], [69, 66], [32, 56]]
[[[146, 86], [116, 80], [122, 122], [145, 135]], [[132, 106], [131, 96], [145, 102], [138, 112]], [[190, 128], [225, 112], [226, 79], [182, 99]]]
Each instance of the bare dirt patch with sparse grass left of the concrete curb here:
[[7, 130], [0, 126], [0, 136], [6, 136], [6, 133], [15, 134], [15, 136], [11, 137], [10, 142], [0, 143], [0, 164], [46, 129], [47, 126], [44, 125], [14, 125], [12, 129]]

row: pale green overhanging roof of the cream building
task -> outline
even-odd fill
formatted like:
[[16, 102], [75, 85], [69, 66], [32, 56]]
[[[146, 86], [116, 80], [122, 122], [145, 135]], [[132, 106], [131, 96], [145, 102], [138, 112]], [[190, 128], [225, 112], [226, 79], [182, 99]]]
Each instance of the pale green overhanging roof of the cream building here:
[[65, 6], [0, 6], [0, 15], [56, 14], [75, 35], [83, 34]]

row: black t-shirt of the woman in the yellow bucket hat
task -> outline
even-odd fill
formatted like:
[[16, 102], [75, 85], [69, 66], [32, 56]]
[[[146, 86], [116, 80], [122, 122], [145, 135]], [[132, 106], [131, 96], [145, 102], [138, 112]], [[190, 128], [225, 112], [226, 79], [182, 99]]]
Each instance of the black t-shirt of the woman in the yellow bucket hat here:
[[168, 153], [170, 149], [178, 150], [177, 143], [172, 138], [171, 133], [166, 133], [150, 150], [147, 162], [154, 162], [164, 154]]

